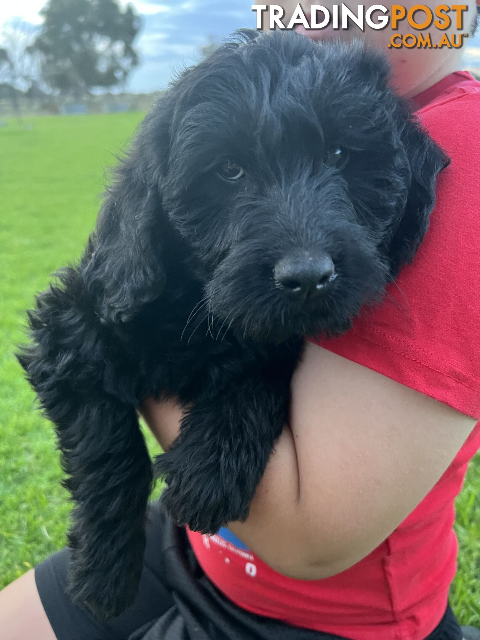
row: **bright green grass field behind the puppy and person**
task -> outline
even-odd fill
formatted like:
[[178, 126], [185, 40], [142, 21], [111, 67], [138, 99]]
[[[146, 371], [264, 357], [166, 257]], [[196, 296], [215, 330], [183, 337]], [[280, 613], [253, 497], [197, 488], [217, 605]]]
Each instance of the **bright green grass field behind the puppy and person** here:
[[[45, 117], [0, 128], [0, 587], [64, 545], [69, 511], [52, 428], [35, 410], [13, 349], [33, 294], [81, 252], [104, 170], [140, 118]], [[463, 624], [480, 627], [479, 458], [457, 511], [451, 600]]]

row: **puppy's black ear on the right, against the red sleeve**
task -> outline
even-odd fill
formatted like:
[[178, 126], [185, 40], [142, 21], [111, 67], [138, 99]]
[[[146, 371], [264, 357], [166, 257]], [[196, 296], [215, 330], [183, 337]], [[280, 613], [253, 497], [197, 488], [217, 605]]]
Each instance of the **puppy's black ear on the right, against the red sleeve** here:
[[426, 234], [430, 214], [435, 206], [438, 173], [450, 163], [438, 145], [412, 116], [403, 115], [400, 132], [406, 155], [408, 195], [399, 212], [399, 224], [387, 249], [392, 262], [391, 275], [396, 277], [401, 267], [410, 264]]

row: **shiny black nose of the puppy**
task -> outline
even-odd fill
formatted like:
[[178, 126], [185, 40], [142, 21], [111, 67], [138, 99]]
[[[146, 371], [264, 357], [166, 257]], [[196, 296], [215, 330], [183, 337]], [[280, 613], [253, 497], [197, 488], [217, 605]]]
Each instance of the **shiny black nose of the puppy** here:
[[328, 253], [284, 258], [276, 263], [273, 275], [276, 283], [299, 301], [322, 296], [337, 278], [335, 264]]

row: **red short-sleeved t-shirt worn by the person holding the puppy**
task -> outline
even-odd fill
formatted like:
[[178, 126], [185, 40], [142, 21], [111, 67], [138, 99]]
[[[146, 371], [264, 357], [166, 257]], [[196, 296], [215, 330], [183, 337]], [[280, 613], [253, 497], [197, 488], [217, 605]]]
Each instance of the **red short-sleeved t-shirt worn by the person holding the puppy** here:
[[[452, 158], [438, 179], [430, 228], [399, 286], [344, 336], [319, 344], [480, 418], [480, 83], [456, 72], [415, 102]], [[479, 448], [480, 422], [387, 540], [324, 580], [276, 573], [227, 529], [189, 532], [189, 540], [209, 579], [248, 611], [353, 640], [422, 640], [447, 606], [458, 550], [454, 499]]]

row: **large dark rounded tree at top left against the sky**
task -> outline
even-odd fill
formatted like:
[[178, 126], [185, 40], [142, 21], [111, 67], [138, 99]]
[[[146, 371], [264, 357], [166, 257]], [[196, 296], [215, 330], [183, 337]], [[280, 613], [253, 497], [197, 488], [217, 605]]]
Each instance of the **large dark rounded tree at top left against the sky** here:
[[42, 76], [63, 95], [81, 97], [94, 87], [124, 83], [138, 64], [132, 44], [140, 17], [115, 0], [49, 0], [33, 50], [42, 57]]

